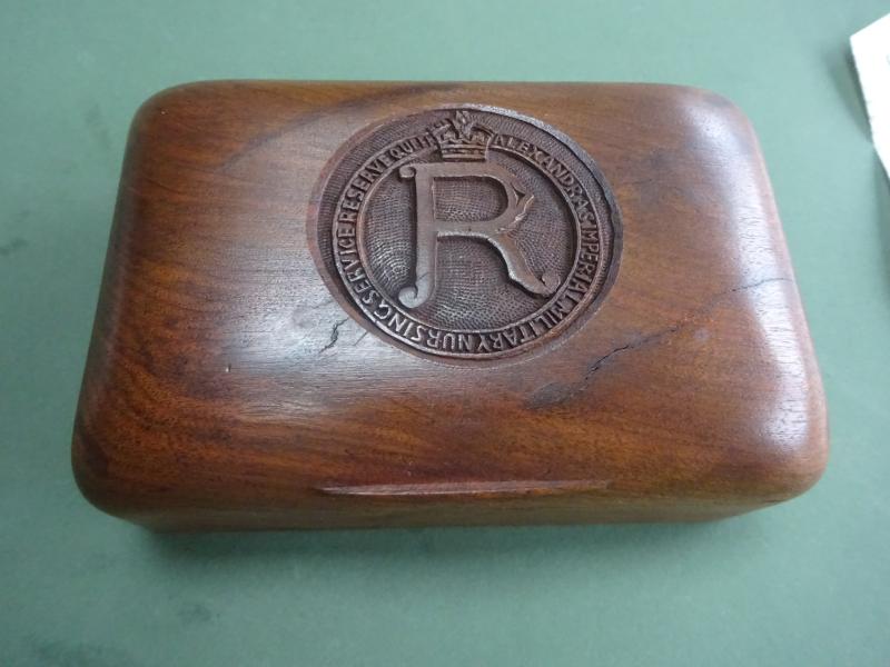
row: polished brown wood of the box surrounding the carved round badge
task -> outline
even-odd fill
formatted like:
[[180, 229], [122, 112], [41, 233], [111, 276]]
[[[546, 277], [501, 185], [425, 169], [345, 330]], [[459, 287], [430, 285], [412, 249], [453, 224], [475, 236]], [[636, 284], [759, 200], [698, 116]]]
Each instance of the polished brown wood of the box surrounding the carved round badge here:
[[[367, 128], [465, 104], [563, 132], [615, 205], [611, 287], [504, 359], [407, 349], [316, 228]], [[160, 529], [709, 519], [802, 492], [825, 457], [758, 142], [721, 97], [212, 82], [134, 121], [73, 437], [106, 511]]]

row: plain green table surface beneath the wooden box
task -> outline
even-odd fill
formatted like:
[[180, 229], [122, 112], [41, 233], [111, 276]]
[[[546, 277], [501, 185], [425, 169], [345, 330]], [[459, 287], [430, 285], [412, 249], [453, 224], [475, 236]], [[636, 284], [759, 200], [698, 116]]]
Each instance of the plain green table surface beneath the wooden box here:
[[[890, 665], [890, 187], [874, 2], [11, 1], [0, 12], [0, 665]], [[152, 535], [69, 438], [125, 137], [219, 78], [655, 81], [759, 131], [832, 457], [720, 522]]]

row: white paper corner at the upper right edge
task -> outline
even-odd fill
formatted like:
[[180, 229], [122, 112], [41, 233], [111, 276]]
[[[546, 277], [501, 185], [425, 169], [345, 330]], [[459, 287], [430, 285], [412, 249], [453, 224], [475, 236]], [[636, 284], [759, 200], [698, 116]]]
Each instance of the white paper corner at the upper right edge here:
[[850, 38], [878, 157], [890, 178], [890, 14]]

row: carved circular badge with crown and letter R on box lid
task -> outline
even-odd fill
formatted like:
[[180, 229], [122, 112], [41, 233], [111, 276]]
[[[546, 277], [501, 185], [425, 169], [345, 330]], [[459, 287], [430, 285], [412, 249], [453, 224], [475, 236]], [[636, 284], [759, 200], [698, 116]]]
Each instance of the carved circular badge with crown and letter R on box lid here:
[[359, 133], [326, 170], [318, 256], [386, 338], [496, 359], [564, 335], [614, 278], [621, 222], [594, 161], [557, 130], [482, 106]]

